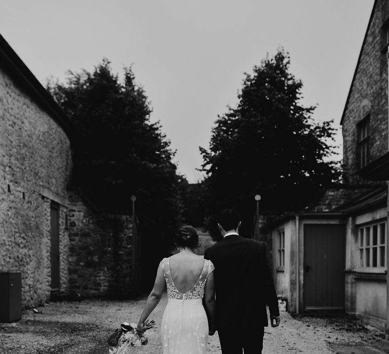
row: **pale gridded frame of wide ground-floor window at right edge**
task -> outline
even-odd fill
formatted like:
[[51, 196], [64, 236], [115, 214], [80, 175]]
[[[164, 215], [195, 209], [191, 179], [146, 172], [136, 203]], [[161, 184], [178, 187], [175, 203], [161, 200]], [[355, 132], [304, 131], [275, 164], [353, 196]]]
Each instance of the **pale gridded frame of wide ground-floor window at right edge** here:
[[[382, 232], [382, 226], [384, 231]], [[386, 239], [387, 222], [385, 219], [357, 225], [358, 270], [364, 272], [383, 272], [387, 269]], [[382, 243], [383, 242], [383, 243]], [[383, 265], [382, 265], [383, 257]], [[375, 264], [375, 265], [374, 265]]]

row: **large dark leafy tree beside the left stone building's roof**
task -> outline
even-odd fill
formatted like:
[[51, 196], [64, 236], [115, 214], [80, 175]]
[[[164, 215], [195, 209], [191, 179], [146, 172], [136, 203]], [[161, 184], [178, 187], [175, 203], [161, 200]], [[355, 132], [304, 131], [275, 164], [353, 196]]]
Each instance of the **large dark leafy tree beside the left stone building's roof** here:
[[170, 141], [159, 122], [151, 123], [150, 104], [136, 85], [131, 68], [124, 80], [104, 59], [93, 72], [68, 72], [66, 84], [49, 82], [48, 90], [82, 137], [75, 151], [72, 184], [86, 201], [109, 213], [131, 213], [135, 194], [142, 234], [143, 279], [173, 245], [180, 215], [178, 185]]

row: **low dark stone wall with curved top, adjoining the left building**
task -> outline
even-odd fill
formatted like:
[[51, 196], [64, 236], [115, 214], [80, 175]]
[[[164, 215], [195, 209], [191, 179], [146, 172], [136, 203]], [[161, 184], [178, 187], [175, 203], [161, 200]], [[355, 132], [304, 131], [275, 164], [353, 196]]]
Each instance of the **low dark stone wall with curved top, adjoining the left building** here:
[[69, 293], [81, 296], [131, 297], [133, 223], [129, 215], [93, 210], [75, 191], [69, 192]]

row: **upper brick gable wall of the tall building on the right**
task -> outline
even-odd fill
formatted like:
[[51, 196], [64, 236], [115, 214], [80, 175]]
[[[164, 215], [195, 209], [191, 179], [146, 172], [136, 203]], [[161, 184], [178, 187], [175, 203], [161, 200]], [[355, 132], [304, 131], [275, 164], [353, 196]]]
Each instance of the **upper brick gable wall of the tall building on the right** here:
[[[357, 123], [370, 112], [370, 161], [388, 151], [388, 93], [386, 54], [381, 53], [381, 26], [387, 16], [387, 0], [375, 6], [356, 75], [344, 111], [344, 182], [366, 183], [353, 173], [357, 166]], [[352, 63], [350, 63], [352, 65]]]

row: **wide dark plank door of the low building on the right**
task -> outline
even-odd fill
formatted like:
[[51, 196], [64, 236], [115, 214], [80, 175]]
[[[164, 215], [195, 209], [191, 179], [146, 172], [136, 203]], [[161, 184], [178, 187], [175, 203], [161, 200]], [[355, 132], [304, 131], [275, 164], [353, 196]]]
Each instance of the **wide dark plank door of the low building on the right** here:
[[344, 308], [344, 225], [304, 225], [304, 308]]

